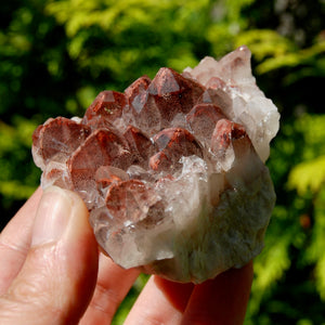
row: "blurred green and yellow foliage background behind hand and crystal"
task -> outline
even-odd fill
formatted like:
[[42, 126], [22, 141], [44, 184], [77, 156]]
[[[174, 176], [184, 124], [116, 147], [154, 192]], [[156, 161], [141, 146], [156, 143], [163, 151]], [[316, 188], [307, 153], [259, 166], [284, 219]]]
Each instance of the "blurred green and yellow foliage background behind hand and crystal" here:
[[[5, 0], [0, 9], [1, 227], [34, 192], [31, 133], [82, 115], [160, 66], [240, 44], [282, 114], [268, 166], [277, 204], [255, 261], [246, 324], [325, 324], [324, 0]], [[115, 318], [121, 324], [141, 277]]]

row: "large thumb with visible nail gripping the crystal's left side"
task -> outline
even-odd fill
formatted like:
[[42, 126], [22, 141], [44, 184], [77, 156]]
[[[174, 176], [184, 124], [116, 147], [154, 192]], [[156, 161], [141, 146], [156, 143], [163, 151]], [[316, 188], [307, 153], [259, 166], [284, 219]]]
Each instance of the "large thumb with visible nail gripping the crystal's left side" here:
[[96, 247], [81, 198], [44, 191], [25, 264], [0, 299], [0, 324], [77, 324], [95, 286]]

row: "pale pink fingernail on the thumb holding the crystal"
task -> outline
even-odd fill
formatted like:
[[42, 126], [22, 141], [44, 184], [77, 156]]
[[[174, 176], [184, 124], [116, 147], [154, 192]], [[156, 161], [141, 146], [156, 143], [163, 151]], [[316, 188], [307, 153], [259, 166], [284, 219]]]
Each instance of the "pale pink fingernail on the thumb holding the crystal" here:
[[31, 246], [57, 242], [67, 227], [72, 209], [72, 199], [64, 190], [47, 188], [35, 217]]

